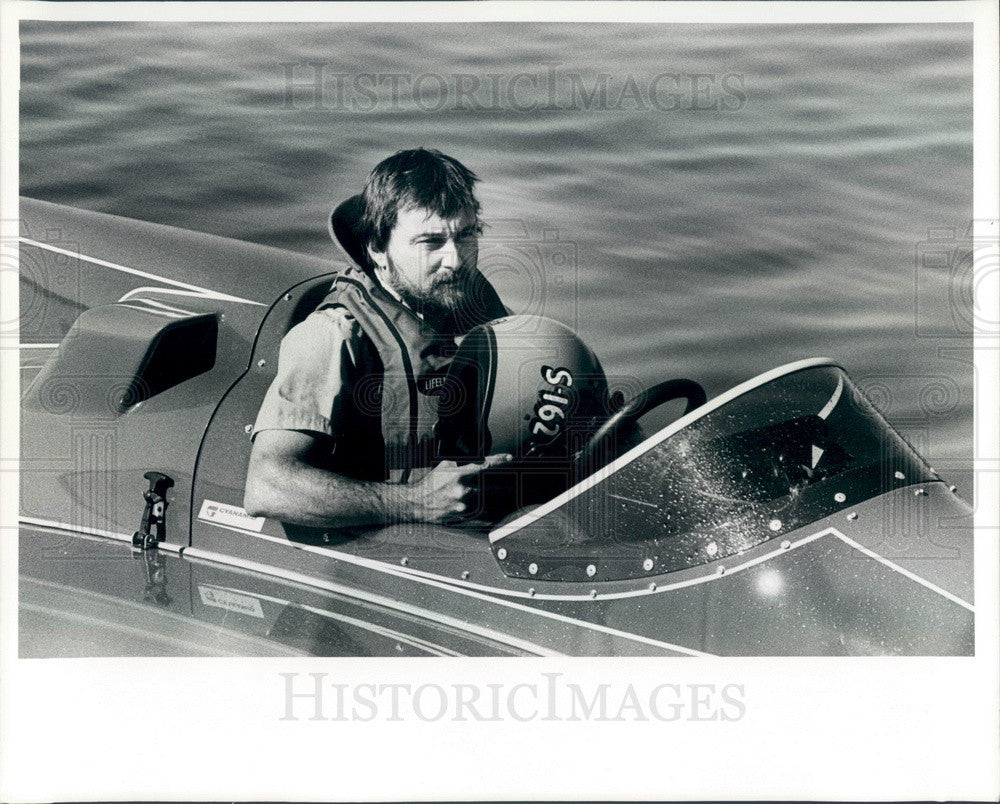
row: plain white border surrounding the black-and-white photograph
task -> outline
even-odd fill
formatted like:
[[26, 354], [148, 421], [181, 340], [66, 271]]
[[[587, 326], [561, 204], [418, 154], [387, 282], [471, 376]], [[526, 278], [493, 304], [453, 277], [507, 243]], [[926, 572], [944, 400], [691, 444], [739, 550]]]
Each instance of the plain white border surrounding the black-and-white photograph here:
[[[17, 236], [18, 21], [973, 22], [974, 217], [997, 236], [996, 9], [898, 3], [74, 3], [4, 0], [3, 238]], [[261, 24], [266, 24], [262, 22]], [[4, 277], [2, 319], [17, 315]], [[995, 314], [997, 299], [980, 288]], [[1000, 347], [977, 337], [976, 656], [950, 659], [18, 660], [18, 369], [0, 350], [0, 799], [996, 800]], [[14, 352], [16, 354], [16, 351]], [[987, 502], [992, 501], [992, 502]], [[282, 720], [283, 673], [349, 685], [739, 685], [729, 722]], [[694, 693], [694, 694], [697, 694]], [[731, 709], [735, 713], [736, 709]]]

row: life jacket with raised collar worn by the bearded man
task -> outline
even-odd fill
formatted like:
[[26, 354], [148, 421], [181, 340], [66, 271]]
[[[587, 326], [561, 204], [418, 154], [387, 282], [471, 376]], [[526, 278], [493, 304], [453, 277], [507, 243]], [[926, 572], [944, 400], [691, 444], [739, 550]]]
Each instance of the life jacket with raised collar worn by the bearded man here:
[[[378, 454], [372, 440], [380, 431], [385, 456], [382, 479], [412, 482], [426, 474], [436, 462], [434, 425], [438, 420], [438, 402], [444, 390], [444, 375], [457, 347], [454, 334], [431, 329], [357, 265], [360, 260], [367, 259], [367, 254], [359, 249], [358, 241], [345, 243], [343, 230], [338, 231], [338, 214], [343, 225], [344, 208], [350, 205], [347, 214], [356, 214], [356, 199], [341, 204], [331, 218], [334, 241], [355, 264], [334, 279], [330, 292], [317, 309], [344, 308], [366, 336], [367, 343], [363, 343], [358, 356], [361, 376], [351, 390], [352, 412], [357, 417], [360, 432], [348, 439], [354, 444], [354, 457], [365, 467], [362, 474], [371, 479], [378, 474], [378, 467], [372, 466]], [[357, 219], [351, 217], [354, 225], [348, 233], [357, 237], [354, 223]], [[506, 314], [496, 290], [482, 277], [474, 294], [474, 304], [460, 312], [461, 318], [449, 332], [461, 334]], [[357, 454], [361, 446], [358, 436], [367, 441], [364, 457]], [[344, 458], [349, 461], [351, 456], [342, 456], [342, 460]]]

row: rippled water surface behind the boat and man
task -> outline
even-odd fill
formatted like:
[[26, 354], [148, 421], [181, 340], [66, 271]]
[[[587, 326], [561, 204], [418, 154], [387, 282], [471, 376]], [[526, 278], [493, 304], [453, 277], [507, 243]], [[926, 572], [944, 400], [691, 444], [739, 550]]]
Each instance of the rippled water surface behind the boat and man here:
[[24, 23], [21, 188], [333, 257], [330, 207], [437, 147], [483, 179], [508, 304], [623, 387], [832, 357], [971, 498], [971, 36]]

